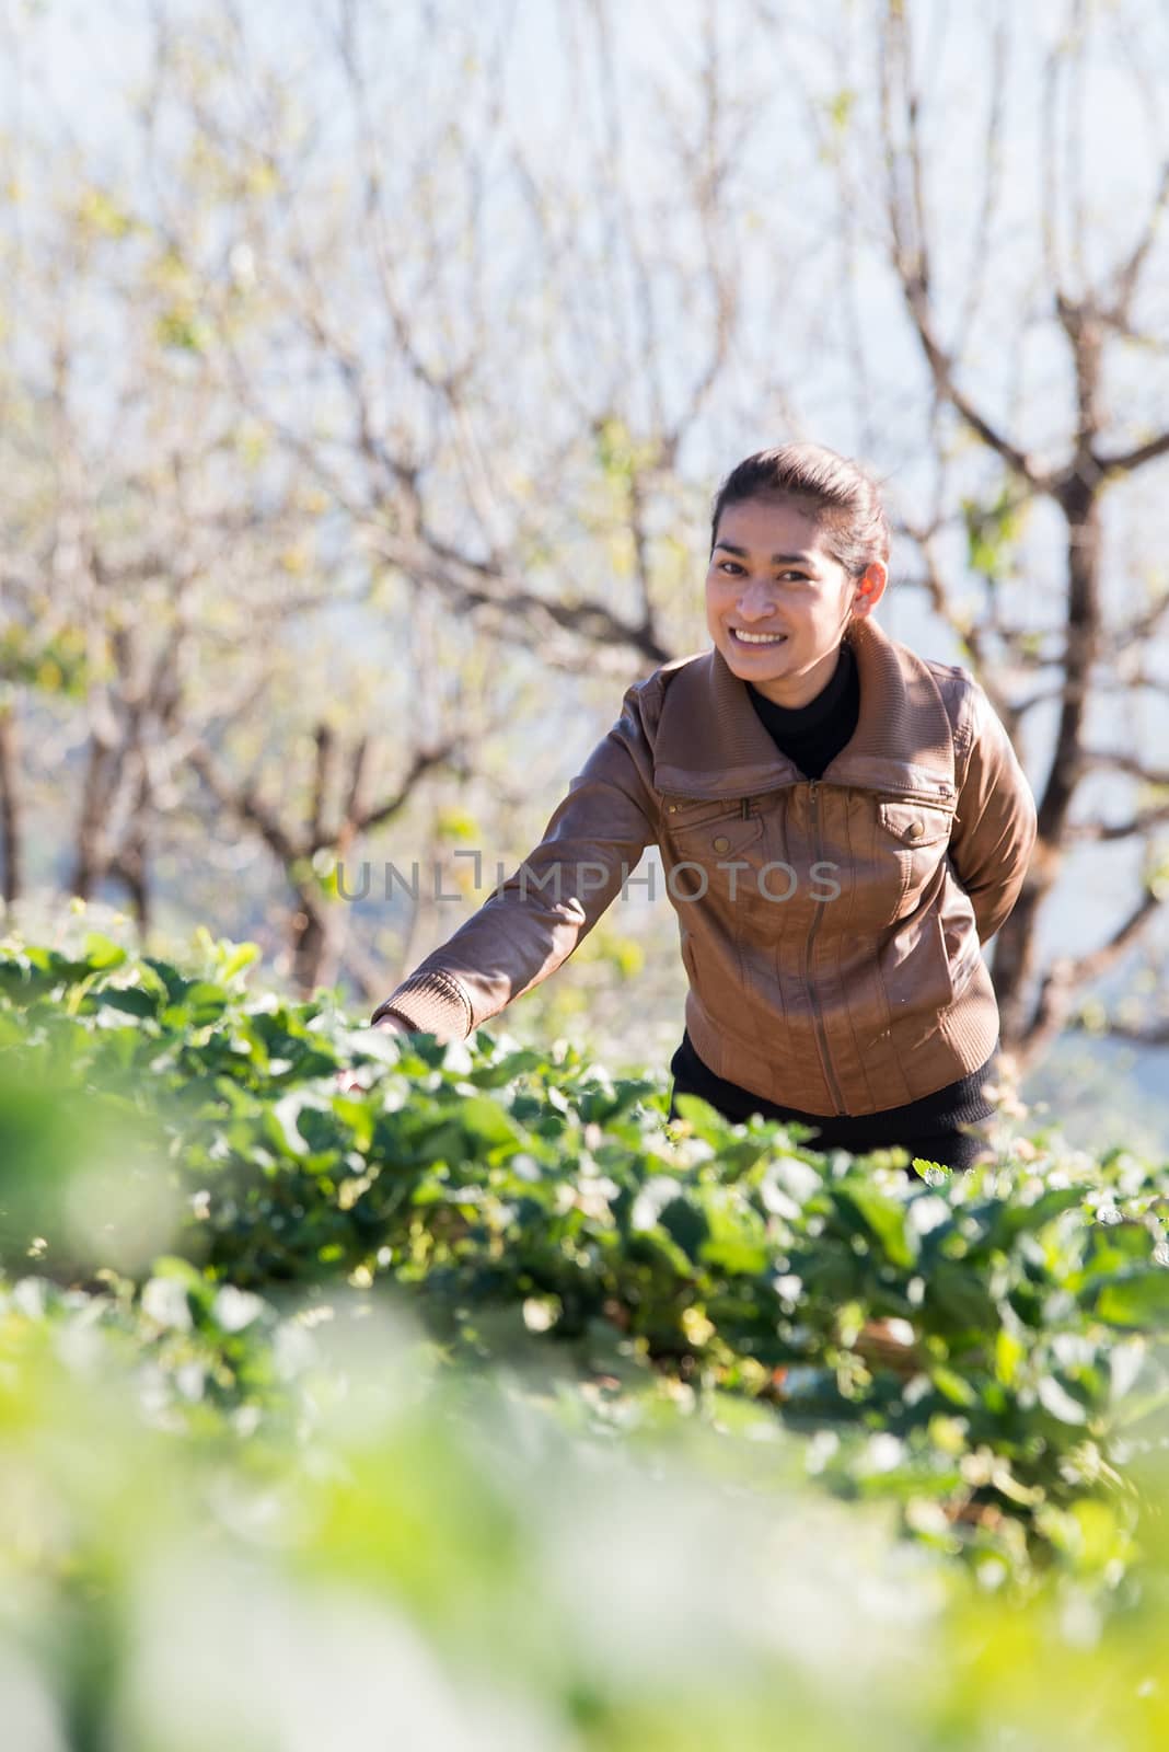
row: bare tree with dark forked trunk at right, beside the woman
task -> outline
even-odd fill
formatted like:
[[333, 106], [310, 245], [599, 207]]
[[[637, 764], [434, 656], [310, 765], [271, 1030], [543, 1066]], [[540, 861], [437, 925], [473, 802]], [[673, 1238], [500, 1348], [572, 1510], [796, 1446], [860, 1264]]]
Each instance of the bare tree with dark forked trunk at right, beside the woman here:
[[[1069, 33], [1048, 51], [1045, 86], [1048, 95], [1060, 81], [1071, 82], [1083, 102], [1083, 58], [1090, 51], [1087, 7], [1076, 0], [1069, 7]], [[1057, 508], [1064, 524], [1066, 596], [1059, 639], [1057, 683], [1036, 689], [1034, 683], [1022, 699], [1008, 699], [996, 685], [996, 675], [985, 657], [982, 634], [966, 643], [978, 666], [980, 680], [992, 692], [1003, 717], [1018, 727], [1040, 699], [1055, 699], [1059, 722], [1055, 745], [1046, 773], [1038, 785], [1040, 837], [1032, 867], [1010, 920], [999, 932], [994, 953], [994, 979], [1003, 1013], [1004, 1039], [1022, 1048], [1032, 1060], [1064, 1027], [1073, 999], [1088, 983], [1111, 969], [1125, 951], [1148, 930], [1164, 906], [1164, 885], [1153, 880], [1155, 858], [1146, 858], [1146, 881], [1127, 913], [1116, 920], [1108, 939], [1092, 950], [1062, 955], [1046, 967], [1038, 965], [1038, 923], [1041, 909], [1062, 874], [1071, 850], [1085, 839], [1139, 839], [1150, 853], [1155, 837], [1169, 823], [1169, 773], [1157, 762], [1148, 762], [1132, 750], [1102, 750], [1092, 746], [1090, 704], [1096, 689], [1115, 687], [1118, 662], [1127, 648], [1152, 641], [1166, 625], [1169, 590], [1152, 608], [1129, 613], [1120, 624], [1106, 625], [1102, 575], [1106, 566], [1104, 499], [1116, 484], [1148, 468], [1169, 454], [1169, 431], [1153, 434], [1141, 443], [1125, 443], [1113, 436], [1104, 394], [1106, 356], [1113, 340], [1144, 342], [1150, 347], [1157, 336], [1141, 335], [1139, 301], [1143, 279], [1157, 240], [1166, 205], [1169, 201], [1169, 135], [1162, 138], [1162, 166], [1153, 196], [1139, 219], [1136, 237], [1127, 251], [1113, 259], [1108, 270], [1090, 272], [1087, 266], [1088, 219], [1083, 207], [1083, 189], [1076, 184], [1076, 154], [1083, 152], [1083, 112], [1078, 126], [1069, 130], [1064, 156], [1054, 128], [1045, 128], [1043, 184], [1045, 198], [1045, 258], [1046, 293], [1050, 308], [1062, 333], [1074, 377], [1073, 419], [1064, 454], [1045, 463], [1029, 454], [1010, 431], [982, 405], [976, 391], [964, 387], [961, 354], [947, 347], [943, 319], [934, 294], [931, 263], [929, 219], [922, 198], [922, 144], [919, 112], [922, 93], [912, 74], [910, 14], [908, 9], [889, 4], [882, 44], [882, 110], [886, 121], [887, 212], [892, 242], [892, 261], [901, 284], [905, 307], [929, 368], [933, 392], [938, 403], [952, 410], [964, 427], [987, 447], [1006, 471], [1008, 491], [1015, 506], [1031, 499], [1046, 499]], [[1050, 103], [1048, 103], [1050, 114]], [[894, 119], [896, 117], [896, 119]], [[1066, 256], [1057, 247], [1055, 215], [1060, 201], [1071, 205], [1069, 249]], [[1164, 336], [1160, 336], [1164, 342]], [[954, 625], [948, 592], [938, 573], [933, 573], [934, 606]], [[990, 613], [985, 632], [999, 646], [1018, 648], [1026, 632], [1006, 622], [1006, 604], [1001, 592], [990, 592]], [[1013, 604], [1018, 608], [1018, 604]], [[980, 648], [980, 645], [984, 648]], [[1050, 668], [1050, 666], [1046, 666]], [[1073, 804], [1083, 778], [1090, 771], [1138, 778], [1162, 792], [1162, 801], [1132, 813], [1122, 822], [1099, 818], [1074, 820]]]

